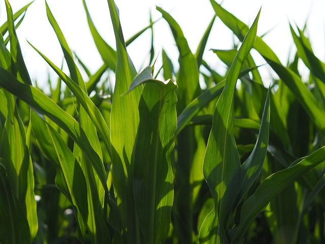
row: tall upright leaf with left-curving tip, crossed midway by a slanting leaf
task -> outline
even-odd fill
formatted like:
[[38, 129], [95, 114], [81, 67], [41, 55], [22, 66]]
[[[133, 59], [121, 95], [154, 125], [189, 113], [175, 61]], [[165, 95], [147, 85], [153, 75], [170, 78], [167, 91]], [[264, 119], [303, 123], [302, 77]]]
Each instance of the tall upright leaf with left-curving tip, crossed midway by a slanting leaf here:
[[[201, 92], [197, 59], [190, 50], [181, 27], [163, 9], [156, 7], [168, 22], [179, 51], [177, 80], [177, 111], [183, 109]], [[180, 242], [192, 242], [193, 206], [203, 181], [202, 163], [206, 142], [200, 127], [186, 128], [177, 137], [175, 169], [175, 201], [173, 219]]]

